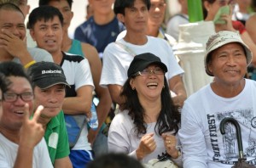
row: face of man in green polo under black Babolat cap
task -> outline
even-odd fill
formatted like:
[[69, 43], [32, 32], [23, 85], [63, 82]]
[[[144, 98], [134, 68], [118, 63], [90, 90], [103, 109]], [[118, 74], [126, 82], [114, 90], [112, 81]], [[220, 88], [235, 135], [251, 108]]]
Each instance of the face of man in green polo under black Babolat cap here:
[[[39, 105], [44, 106], [42, 111], [42, 118], [53, 118], [59, 114], [62, 109], [62, 104], [65, 98], [65, 86], [62, 84], [49, 87], [47, 89], [41, 89], [39, 87], [34, 88], [35, 94], [35, 107]], [[40, 120], [40, 119], [39, 119]]]

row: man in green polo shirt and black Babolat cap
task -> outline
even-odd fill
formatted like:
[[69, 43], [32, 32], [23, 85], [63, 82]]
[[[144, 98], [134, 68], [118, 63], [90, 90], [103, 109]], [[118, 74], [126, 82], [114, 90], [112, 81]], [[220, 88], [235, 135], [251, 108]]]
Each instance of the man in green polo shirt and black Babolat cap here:
[[27, 71], [32, 79], [35, 108], [43, 105], [44, 110], [38, 119], [44, 127], [44, 138], [49, 156], [54, 167], [73, 167], [68, 155], [70, 153], [67, 129], [62, 104], [67, 84], [61, 66], [50, 62], [32, 64]]

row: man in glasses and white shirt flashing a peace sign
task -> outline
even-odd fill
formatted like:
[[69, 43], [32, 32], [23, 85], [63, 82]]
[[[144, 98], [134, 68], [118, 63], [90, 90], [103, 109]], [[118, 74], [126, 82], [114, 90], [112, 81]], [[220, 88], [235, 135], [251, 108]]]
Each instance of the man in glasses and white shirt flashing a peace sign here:
[[44, 109], [39, 106], [29, 120], [33, 108], [33, 92], [22, 65], [0, 64], [0, 72], [11, 82], [3, 92], [3, 115], [0, 119], [1, 167], [53, 167], [44, 141], [44, 128], [38, 123]]

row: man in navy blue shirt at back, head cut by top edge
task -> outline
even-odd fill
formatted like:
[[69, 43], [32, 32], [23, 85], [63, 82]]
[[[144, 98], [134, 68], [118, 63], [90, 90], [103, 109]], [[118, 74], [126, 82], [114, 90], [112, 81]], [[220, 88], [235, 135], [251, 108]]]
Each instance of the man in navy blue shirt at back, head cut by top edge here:
[[119, 33], [125, 30], [125, 26], [113, 13], [114, 0], [89, 0], [89, 3], [93, 15], [77, 27], [74, 38], [94, 46], [102, 59], [104, 49], [110, 42], [115, 42]]

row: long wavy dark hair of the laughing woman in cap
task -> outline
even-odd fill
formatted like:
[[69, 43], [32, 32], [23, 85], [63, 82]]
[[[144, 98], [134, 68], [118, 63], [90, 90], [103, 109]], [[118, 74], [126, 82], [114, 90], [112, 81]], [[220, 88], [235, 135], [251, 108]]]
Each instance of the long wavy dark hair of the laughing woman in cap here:
[[[135, 132], [137, 133], [137, 137], [140, 137], [142, 134], [145, 134], [147, 132], [147, 123], [143, 120], [145, 116], [145, 111], [143, 109], [143, 106], [139, 102], [139, 99], [137, 97], [137, 91], [132, 90], [130, 85], [131, 78], [135, 77], [136, 76], [131, 76], [127, 79], [127, 81], [125, 81], [123, 90], [120, 93], [120, 96], [125, 98], [125, 103], [120, 105], [120, 109], [129, 110], [128, 115], [131, 116], [131, 119], [136, 126]], [[174, 131], [174, 134], [176, 134], [178, 131], [178, 125], [180, 123], [180, 114], [177, 111], [177, 106], [175, 106], [172, 102], [166, 77], [164, 84], [166, 87], [162, 89], [160, 95], [162, 109], [160, 110], [160, 114], [157, 118], [154, 132], [161, 135], [164, 132]], [[158, 130], [156, 130], [157, 128]]]

